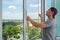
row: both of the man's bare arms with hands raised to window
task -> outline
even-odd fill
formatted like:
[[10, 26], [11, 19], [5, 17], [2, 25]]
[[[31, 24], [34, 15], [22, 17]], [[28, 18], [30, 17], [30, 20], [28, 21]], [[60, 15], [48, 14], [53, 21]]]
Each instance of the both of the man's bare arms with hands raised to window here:
[[[40, 15], [41, 17], [41, 15]], [[27, 20], [31, 22], [31, 24], [35, 27], [40, 27], [40, 28], [45, 28], [46, 25], [45, 25], [45, 22], [43, 21], [42, 17], [41, 17], [41, 23], [37, 23], [35, 21], [33, 21], [29, 16], [27, 17]]]

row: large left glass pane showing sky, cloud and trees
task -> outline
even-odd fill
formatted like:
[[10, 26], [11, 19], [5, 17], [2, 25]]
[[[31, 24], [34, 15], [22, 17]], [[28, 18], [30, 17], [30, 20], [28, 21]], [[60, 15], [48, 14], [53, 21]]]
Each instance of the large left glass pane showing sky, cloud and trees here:
[[23, 40], [23, 0], [2, 0], [4, 40]]

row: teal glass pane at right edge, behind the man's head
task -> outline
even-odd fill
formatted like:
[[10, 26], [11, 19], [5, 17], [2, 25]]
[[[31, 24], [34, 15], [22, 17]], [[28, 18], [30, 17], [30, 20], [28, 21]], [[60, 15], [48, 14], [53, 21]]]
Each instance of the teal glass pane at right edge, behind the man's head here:
[[55, 7], [58, 10], [58, 13], [56, 15], [56, 24], [57, 24], [57, 37], [59, 37], [60, 40], [60, 0], [55, 1]]

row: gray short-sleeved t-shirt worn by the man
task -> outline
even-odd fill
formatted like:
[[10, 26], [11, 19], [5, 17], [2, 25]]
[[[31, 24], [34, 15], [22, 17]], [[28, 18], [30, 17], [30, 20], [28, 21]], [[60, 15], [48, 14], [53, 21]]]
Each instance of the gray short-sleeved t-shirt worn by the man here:
[[43, 29], [42, 40], [56, 40], [56, 23], [55, 20], [48, 19], [46, 22], [46, 28]]

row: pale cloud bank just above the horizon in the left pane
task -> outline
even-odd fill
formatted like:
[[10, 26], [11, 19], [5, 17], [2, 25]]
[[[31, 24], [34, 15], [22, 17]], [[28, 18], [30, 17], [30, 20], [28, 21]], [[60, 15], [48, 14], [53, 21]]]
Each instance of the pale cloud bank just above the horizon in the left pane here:
[[23, 19], [23, 13], [3, 12], [2, 19]]

